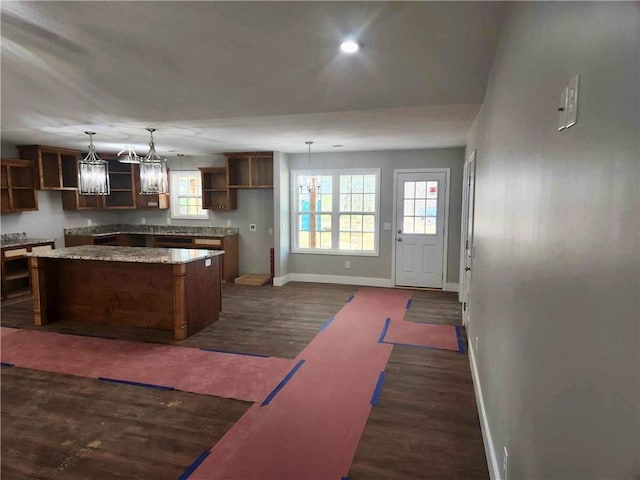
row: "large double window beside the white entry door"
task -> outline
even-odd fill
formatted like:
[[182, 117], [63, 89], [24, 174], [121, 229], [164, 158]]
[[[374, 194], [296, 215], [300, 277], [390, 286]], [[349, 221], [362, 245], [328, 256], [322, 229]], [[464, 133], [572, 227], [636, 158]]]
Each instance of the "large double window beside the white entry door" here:
[[292, 172], [293, 252], [378, 255], [380, 170]]

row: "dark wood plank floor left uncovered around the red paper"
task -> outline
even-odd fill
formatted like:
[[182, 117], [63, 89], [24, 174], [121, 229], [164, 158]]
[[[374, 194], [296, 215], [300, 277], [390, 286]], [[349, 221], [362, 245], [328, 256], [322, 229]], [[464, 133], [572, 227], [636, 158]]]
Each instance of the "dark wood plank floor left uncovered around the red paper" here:
[[[170, 332], [57, 322], [32, 325], [30, 301], [2, 307], [2, 325], [294, 358], [358, 287], [223, 286], [214, 325]], [[414, 291], [405, 317], [459, 324], [456, 294]], [[176, 479], [249, 403], [20, 368], [2, 369], [1, 478]], [[394, 347], [349, 477], [488, 478], [468, 357]]]

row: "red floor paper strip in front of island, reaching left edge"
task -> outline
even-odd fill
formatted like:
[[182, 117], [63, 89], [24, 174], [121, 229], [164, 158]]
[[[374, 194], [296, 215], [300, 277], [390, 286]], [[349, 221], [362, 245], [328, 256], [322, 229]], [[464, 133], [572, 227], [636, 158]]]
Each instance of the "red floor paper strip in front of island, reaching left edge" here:
[[173, 387], [261, 402], [294, 360], [127, 340], [1, 328], [2, 362], [16, 367]]

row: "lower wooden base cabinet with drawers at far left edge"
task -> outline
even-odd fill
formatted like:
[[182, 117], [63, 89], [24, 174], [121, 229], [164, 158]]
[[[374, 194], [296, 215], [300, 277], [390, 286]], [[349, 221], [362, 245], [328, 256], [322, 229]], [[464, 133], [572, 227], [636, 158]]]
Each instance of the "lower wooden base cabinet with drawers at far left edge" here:
[[28, 252], [52, 250], [53, 242], [25, 244], [2, 248], [2, 300], [29, 295], [31, 277], [29, 274]]

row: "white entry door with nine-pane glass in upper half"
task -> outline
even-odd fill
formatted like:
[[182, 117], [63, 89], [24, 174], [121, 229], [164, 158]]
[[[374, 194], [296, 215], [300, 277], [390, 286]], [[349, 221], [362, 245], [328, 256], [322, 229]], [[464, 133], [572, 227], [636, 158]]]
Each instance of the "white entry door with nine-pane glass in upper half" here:
[[397, 175], [396, 285], [442, 288], [445, 172]]

